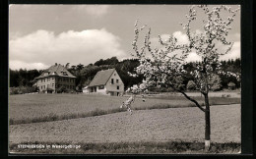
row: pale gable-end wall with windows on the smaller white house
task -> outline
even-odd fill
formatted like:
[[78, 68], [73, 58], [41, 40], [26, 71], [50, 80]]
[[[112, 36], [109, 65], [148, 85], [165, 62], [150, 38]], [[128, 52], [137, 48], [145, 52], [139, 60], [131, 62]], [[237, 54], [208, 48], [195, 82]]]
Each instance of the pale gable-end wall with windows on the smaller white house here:
[[[113, 83], [111, 83], [111, 79], [113, 79], [114, 81]], [[116, 79], [118, 79], [118, 83], [116, 82]], [[119, 86], [119, 89], [117, 89], [117, 86]], [[114, 71], [111, 77], [107, 80], [105, 87], [106, 87], [106, 93], [109, 91], [119, 92], [119, 93], [124, 92], [124, 83], [116, 71]], [[116, 93], [113, 95], [116, 95]]]

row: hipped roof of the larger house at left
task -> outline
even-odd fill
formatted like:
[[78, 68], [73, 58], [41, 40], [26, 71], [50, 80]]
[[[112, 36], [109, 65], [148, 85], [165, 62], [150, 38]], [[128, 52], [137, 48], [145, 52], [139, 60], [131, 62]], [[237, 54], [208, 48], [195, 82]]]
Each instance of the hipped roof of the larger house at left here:
[[[45, 73], [47, 74], [45, 75]], [[40, 79], [40, 78], [45, 78], [50, 76], [76, 78], [64, 66], [60, 64], [55, 64], [51, 66], [49, 69], [44, 70], [43, 73], [35, 79]]]

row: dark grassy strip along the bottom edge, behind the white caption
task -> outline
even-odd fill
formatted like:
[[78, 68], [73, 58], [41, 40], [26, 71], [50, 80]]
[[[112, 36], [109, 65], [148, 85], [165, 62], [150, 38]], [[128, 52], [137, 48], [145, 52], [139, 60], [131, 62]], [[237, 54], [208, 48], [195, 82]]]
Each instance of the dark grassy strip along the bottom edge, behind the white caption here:
[[[38, 144], [37, 142], [22, 144]], [[69, 143], [43, 142], [49, 148], [18, 148], [18, 144], [9, 146], [11, 153], [24, 154], [198, 154], [198, 153], [239, 153], [241, 144], [236, 142], [212, 143], [209, 152], [204, 150], [203, 142], [166, 141], [166, 142], [108, 142], [108, 143], [76, 143], [79, 148], [67, 148]], [[62, 148], [52, 148], [52, 145], [62, 145]], [[65, 146], [66, 148], [65, 148]]]

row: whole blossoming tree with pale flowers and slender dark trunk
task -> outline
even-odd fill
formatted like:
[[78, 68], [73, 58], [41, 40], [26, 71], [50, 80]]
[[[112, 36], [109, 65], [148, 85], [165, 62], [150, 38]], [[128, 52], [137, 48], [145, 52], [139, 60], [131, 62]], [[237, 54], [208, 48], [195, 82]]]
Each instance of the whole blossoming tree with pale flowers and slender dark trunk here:
[[[203, 20], [203, 30], [191, 28], [191, 24], [197, 20], [198, 10], [206, 15], [206, 20]], [[132, 43], [135, 53], [132, 56], [140, 60], [140, 66], [135, 69], [135, 73], [129, 74], [134, 77], [144, 75], [145, 78], [137, 91], [145, 91], [150, 86], [171, 87], [193, 102], [205, 113], [206, 150], [210, 148], [211, 134], [208, 96], [211, 86], [214, 84], [211, 79], [217, 75], [234, 76], [237, 79], [240, 77], [240, 75], [233, 73], [224, 73], [219, 60], [232, 47], [233, 43], [227, 41], [226, 36], [238, 10], [231, 10], [226, 6], [214, 7], [212, 10], [207, 5], [191, 6], [188, 15], [186, 15], [187, 23], [181, 24], [188, 37], [188, 42], [180, 44], [173, 35], [163, 40], [159, 35], [160, 48], [154, 49], [151, 43], [151, 28], [145, 35], [142, 47], [139, 48], [139, 35], [146, 26], [139, 28], [138, 21], [135, 24], [135, 39]], [[226, 12], [231, 17], [223, 19], [222, 12]], [[187, 73], [184, 66], [187, 64], [188, 55], [192, 52], [196, 53], [201, 61], [196, 62], [193, 71]], [[183, 79], [188, 75], [192, 76], [197, 89], [204, 95], [205, 106], [201, 106], [185, 92]], [[129, 90], [134, 91], [134, 88]]]

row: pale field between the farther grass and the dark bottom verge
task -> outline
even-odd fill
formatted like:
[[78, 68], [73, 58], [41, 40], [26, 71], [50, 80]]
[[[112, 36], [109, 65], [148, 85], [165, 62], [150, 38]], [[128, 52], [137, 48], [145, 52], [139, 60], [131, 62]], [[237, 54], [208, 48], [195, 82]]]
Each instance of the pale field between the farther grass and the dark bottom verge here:
[[[240, 104], [211, 108], [212, 140], [240, 141]], [[186, 141], [204, 138], [204, 113], [198, 108], [170, 108], [108, 114], [57, 122], [13, 125], [10, 143], [25, 141], [120, 142]]]

